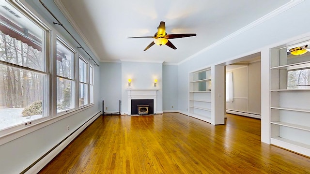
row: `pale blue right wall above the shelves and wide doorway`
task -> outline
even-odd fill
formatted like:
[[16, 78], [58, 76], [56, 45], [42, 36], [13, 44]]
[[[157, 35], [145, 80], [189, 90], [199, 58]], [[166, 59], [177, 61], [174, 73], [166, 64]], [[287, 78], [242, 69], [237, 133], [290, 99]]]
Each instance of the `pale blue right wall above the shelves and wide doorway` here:
[[182, 79], [188, 77], [189, 72], [226, 62], [238, 55], [254, 53], [253, 51], [267, 45], [283, 44], [286, 40], [308, 33], [310, 31], [310, 22], [299, 16], [307, 16], [309, 9], [310, 0], [305, 0], [256, 27], [248, 29], [188, 61], [182, 62], [179, 65], [179, 110], [186, 112], [188, 106], [188, 81]]

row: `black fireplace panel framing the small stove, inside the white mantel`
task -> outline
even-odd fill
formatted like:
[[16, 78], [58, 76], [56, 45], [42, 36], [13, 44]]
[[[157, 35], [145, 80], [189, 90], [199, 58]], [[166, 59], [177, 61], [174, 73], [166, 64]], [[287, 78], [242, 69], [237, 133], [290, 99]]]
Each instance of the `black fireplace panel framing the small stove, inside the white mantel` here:
[[[139, 108], [144, 113], [139, 114]], [[147, 107], [146, 107], [147, 106]], [[153, 99], [134, 99], [131, 100], [131, 115], [148, 115], [154, 114], [154, 100]]]

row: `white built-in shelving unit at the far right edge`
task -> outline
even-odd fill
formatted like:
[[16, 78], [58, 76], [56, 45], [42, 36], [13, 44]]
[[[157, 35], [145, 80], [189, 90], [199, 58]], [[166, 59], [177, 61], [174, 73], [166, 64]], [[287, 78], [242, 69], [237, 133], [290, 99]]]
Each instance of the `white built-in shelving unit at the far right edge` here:
[[310, 82], [300, 84], [310, 53], [293, 56], [287, 50], [273, 50], [270, 59], [270, 143], [310, 157]]

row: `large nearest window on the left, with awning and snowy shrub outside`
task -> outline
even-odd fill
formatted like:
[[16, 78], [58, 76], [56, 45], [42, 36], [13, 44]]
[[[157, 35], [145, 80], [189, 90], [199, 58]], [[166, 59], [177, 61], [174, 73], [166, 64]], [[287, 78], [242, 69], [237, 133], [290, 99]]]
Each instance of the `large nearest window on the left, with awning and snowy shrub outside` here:
[[49, 116], [48, 31], [7, 2], [0, 6], [0, 130]]

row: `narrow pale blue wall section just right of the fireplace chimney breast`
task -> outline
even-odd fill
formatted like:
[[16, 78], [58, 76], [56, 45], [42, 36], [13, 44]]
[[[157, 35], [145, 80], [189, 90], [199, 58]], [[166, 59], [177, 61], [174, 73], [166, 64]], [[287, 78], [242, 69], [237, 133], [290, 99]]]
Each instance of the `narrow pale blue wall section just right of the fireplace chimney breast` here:
[[163, 65], [163, 112], [177, 112], [177, 110], [178, 66]]

